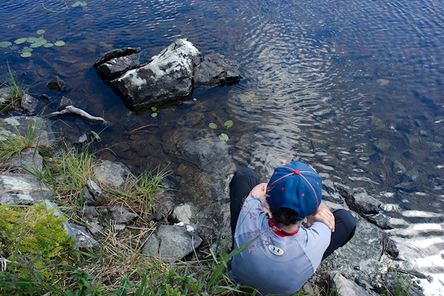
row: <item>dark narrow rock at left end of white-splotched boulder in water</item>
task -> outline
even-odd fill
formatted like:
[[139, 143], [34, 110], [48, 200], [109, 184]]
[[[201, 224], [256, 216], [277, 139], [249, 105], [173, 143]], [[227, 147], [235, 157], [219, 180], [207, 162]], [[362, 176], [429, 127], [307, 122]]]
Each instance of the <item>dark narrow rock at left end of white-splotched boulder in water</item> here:
[[130, 54], [129, 56], [121, 56], [112, 58], [107, 62], [96, 67], [97, 74], [104, 81], [117, 79], [121, 74], [130, 69], [134, 69], [140, 65], [140, 54]]

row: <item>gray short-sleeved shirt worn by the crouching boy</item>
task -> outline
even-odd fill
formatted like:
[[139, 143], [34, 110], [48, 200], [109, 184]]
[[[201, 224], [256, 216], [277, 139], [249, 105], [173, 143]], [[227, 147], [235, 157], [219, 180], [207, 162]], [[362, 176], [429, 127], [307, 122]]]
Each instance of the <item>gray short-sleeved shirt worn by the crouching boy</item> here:
[[239, 283], [257, 288], [263, 295], [291, 295], [316, 271], [330, 245], [331, 231], [322, 222], [300, 227], [293, 236], [278, 236], [268, 226], [262, 199], [246, 197], [234, 233], [234, 247], [250, 240], [232, 258], [231, 274]]

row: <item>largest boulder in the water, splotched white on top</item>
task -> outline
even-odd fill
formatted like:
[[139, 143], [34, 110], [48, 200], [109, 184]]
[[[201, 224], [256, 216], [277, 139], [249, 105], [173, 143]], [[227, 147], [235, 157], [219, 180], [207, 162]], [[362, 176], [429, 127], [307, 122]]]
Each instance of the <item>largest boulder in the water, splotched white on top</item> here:
[[191, 93], [194, 67], [202, 53], [186, 39], [179, 39], [153, 56], [143, 67], [132, 69], [110, 85], [135, 109], [185, 97]]

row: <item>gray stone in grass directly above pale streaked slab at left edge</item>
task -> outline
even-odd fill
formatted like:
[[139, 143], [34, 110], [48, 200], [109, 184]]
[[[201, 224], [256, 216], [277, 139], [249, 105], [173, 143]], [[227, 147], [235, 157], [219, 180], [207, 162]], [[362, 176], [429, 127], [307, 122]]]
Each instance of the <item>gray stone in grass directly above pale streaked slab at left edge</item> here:
[[26, 148], [14, 154], [1, 164], [2, 167], [19, 169], [20, 173], [40, 174], [43, 170], [43, 158], [36, 148]]

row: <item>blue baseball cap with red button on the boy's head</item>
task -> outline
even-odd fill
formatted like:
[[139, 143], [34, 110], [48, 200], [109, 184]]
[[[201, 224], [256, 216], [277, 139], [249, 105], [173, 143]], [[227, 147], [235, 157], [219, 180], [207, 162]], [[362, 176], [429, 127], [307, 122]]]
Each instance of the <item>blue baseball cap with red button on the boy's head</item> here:
[[302, 220], [318, 210], [322, 180], [313, 167], [295, 161], [275, 169], [268, 182], [267, 193], [266, 200], [273, 211], [291, 208]]

